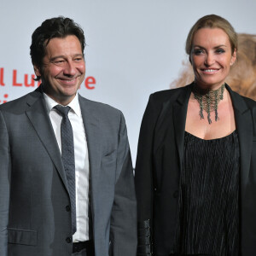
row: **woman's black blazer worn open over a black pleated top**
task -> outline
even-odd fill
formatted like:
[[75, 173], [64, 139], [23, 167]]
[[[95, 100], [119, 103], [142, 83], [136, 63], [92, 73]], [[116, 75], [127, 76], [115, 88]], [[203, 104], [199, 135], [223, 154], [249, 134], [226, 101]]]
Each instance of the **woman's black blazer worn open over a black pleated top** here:
[[[254, 256], [256, 102], [239, 96], [228, 85], [226, 88], [233, 102], [241, 150], [240, 255]], [[183, 139], [190, 94], [191, 84], [183, 88], [156, 92], [150, 96], [143, 116], [135, 172], [138, 221], [141, 226], [148, 219], [153, 224], [153, 247], [154, 255], [157, 256], [172, 253], [176, 235], [179, 174], [183, 164]], [[140, 238], [139, 242], [143, 243], [143, 238]], [[146, 245], [140, 248], [144, 252], [149, 250]]]

